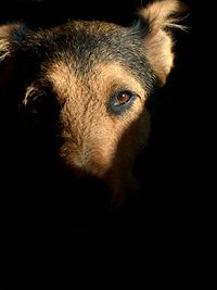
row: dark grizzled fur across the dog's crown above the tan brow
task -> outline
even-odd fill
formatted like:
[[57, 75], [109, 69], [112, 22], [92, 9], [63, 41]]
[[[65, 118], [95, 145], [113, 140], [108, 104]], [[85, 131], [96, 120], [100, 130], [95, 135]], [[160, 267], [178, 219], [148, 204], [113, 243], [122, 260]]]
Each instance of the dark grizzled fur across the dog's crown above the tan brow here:
[[[141, 39], [128, 27], [103, 22], [69, 22], [30, 36], [26, 48], [41, 67], [65, 63], [76, 75], [90, 75], [95, 65], [116, 63], [129, 71], [148, 90], [154, 75]], [[26, 49], [24, 48], [24, 49]]]

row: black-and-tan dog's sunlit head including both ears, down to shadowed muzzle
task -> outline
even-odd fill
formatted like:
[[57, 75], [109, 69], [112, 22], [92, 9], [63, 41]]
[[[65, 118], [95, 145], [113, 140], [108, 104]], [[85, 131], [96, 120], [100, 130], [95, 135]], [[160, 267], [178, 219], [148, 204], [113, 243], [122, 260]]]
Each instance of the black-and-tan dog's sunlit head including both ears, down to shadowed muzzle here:
[[145, 103], [173, 67], [165, 27], [180, 9], [175, 0], [150, 4], [129, 27], [101, 22], [39, 31], [22, 24], [0, 27], [0, 85], [25, 123], [52, 134], [62, 163], [103, 179], [117, 200], [135, 186], [132, 165], [150, 130]]

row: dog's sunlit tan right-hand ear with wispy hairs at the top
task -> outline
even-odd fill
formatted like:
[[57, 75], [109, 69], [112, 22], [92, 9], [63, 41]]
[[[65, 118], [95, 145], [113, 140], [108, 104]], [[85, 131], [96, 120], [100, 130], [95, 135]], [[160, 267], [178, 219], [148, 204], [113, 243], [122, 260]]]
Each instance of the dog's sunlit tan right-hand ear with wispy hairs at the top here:
[[142, 36], [145, 54], [159, 85], [164, 85], [174, 65], [174, 40], [169, 28], [181, 28], [180, 13], [187, 5], [179, 0], [161, 0], [139, 11], [135, 29]]

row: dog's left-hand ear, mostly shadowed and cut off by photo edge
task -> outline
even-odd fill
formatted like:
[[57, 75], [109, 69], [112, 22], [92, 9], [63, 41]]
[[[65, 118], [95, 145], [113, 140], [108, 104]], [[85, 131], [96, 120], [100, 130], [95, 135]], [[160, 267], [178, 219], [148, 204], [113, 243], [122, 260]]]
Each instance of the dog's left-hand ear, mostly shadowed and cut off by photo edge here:
[[8, 79], [13, 68], [13, 56], [18, 45], [30, 34], [23, 23], [0, 25], [0, 86]]

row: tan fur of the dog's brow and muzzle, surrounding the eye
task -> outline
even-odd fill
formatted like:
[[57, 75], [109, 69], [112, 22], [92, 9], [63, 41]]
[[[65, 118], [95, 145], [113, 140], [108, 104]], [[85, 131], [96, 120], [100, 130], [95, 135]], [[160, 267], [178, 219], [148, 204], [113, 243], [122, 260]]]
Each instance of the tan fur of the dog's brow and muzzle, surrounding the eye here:
[[[144, 121], [142, 128], [133, 127], [144, 111], [144, 89], [130, 72], [117, 63], [98, 64], [85, 77], [75, 75], [63, 62], [51, 64], [43, 71], [41, 81], [27, 89], [25, 100], [40, 88], [40, 83], [52, 87], [63, 104], [60, 122], [64, 143], [60, 153], [64, 162], [75, 169], [105, 178], [116, 194], [126, 191], [129, 185], [125, 188], [125, 184], [132, 181], [129, 167], [133, 162], [132, 152], [137, 150], [133, 134], [138, 135], [138, 129], [149, 131]], [[136, 91], [138, 98], [122, 116], [111, 115], [106, 103], [115, 91], [123, 88]], [[119, 142], [131, 125], [133, 130], [124, 138], [127, 141], [119, 152]]]

